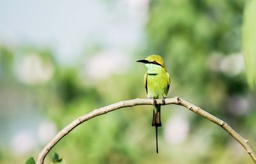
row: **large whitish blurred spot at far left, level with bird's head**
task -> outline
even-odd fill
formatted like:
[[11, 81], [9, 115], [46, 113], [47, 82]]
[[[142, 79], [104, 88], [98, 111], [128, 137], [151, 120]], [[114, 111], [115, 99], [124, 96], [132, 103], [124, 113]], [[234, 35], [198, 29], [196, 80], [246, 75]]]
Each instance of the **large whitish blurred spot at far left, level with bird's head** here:
[[16, 73], [19, 80], [26, 84], [44, 84], [51, 79], [54, 68], [38, 54], [29, 54], [17, 63]]

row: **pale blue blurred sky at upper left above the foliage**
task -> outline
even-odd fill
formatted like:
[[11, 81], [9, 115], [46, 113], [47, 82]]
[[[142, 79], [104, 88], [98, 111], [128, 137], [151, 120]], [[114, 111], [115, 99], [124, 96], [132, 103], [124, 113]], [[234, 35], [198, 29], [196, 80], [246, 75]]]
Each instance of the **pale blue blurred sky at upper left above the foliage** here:
[[147, 0], [0, 0], [0, 43], [50, 47], [70, 63], [99, 42], [122, 51], [143, 38]]

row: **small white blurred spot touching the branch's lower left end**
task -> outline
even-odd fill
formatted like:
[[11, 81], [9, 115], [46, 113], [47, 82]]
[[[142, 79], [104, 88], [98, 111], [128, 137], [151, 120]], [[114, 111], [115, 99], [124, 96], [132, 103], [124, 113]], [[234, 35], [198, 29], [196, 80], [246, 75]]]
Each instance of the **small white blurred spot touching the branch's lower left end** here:
[[45, 120], [39, 124], [38, 138], [41, 144], [45, 144], [51, 140], [57, 133], [57, 128], [51, 121]]

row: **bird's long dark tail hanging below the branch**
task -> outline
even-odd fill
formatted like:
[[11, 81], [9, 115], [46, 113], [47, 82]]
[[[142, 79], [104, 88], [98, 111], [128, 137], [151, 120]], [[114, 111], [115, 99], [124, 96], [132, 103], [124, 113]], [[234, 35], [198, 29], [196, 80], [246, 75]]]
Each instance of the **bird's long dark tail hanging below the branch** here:
[[157, 128], [162, 126], [162, 124], [161, 124], [161, 106], [160, 105], [155, 105], [155, 107], [154, 107], [152, 126], [156, 126], [156, 153], [158, 153]]

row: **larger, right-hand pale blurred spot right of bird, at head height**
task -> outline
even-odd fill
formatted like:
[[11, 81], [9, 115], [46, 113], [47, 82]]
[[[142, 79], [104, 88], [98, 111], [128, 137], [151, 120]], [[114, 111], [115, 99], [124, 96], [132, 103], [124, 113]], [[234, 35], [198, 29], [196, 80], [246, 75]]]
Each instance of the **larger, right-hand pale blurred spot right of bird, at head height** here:
[[220, 70], [227, 75], [238, 75], [244, 70], [244, 58], [243, 54], [232, 54], [224, 59], [220, 63]]

